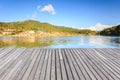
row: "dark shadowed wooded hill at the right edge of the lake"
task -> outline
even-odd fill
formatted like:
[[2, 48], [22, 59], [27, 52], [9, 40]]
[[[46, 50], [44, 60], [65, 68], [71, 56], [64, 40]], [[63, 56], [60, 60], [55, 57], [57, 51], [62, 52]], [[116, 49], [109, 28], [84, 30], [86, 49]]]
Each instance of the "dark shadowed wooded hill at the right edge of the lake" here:
[[105, 36], [120, 36], [120, 25], [106, 28], [100, 32], [100, 35]]

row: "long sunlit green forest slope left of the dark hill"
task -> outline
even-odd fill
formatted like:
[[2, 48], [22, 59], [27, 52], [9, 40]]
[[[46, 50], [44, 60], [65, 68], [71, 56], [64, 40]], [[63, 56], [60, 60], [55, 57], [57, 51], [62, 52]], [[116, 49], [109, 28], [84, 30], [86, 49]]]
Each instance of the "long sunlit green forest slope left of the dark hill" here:
[[20, 32], [24, 32], [27, 30], [34, 30], [34, 31], [42, 31], [42, 32], [63, 32], [63, 33], [70, 33], [70, 34], [83, 34], [83, 35], [96, 35], [97, 32], [92, 30], [79, 30], [70, 27], [64, 26], [55, 26], [49, 23], [41, 23], [35, 20], [26, 20], [26, 21], [19, 21], [19, 22], [0, 22], [0, 33], [3, 31], [12, 31], [12, 34], [17, 34]]

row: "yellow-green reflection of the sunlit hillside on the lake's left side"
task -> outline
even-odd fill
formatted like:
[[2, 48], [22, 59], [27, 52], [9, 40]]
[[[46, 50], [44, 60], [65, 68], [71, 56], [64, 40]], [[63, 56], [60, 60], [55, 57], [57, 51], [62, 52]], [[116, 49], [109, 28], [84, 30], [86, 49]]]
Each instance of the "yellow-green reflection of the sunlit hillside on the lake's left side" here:
[[45, 47], [53, 44], [50, 37], [18, 37], [17, 39], [1, 39], [0, 47], [17, 46], [17, 47]]

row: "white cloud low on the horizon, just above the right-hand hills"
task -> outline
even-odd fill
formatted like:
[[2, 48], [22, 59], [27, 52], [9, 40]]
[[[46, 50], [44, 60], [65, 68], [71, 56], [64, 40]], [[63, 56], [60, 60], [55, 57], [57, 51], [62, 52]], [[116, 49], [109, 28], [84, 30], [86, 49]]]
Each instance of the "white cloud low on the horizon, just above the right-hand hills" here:
[[111, 27], [112, 25], [103, 25], [101, 23], [97, 23], [95, 26], [91, 26], [89, 29], [91, 30], [95, 30], [95, 31], [101, 31], [105, 28], [109, 28]]

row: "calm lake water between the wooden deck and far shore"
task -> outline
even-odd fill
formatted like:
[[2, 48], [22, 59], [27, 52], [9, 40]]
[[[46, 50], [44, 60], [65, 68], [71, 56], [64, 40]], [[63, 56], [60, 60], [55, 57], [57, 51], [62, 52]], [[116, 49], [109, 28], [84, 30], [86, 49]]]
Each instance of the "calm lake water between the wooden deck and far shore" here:
[[119, 48], [120, 37], [0, 37], [0, 47], [40, 48]]

